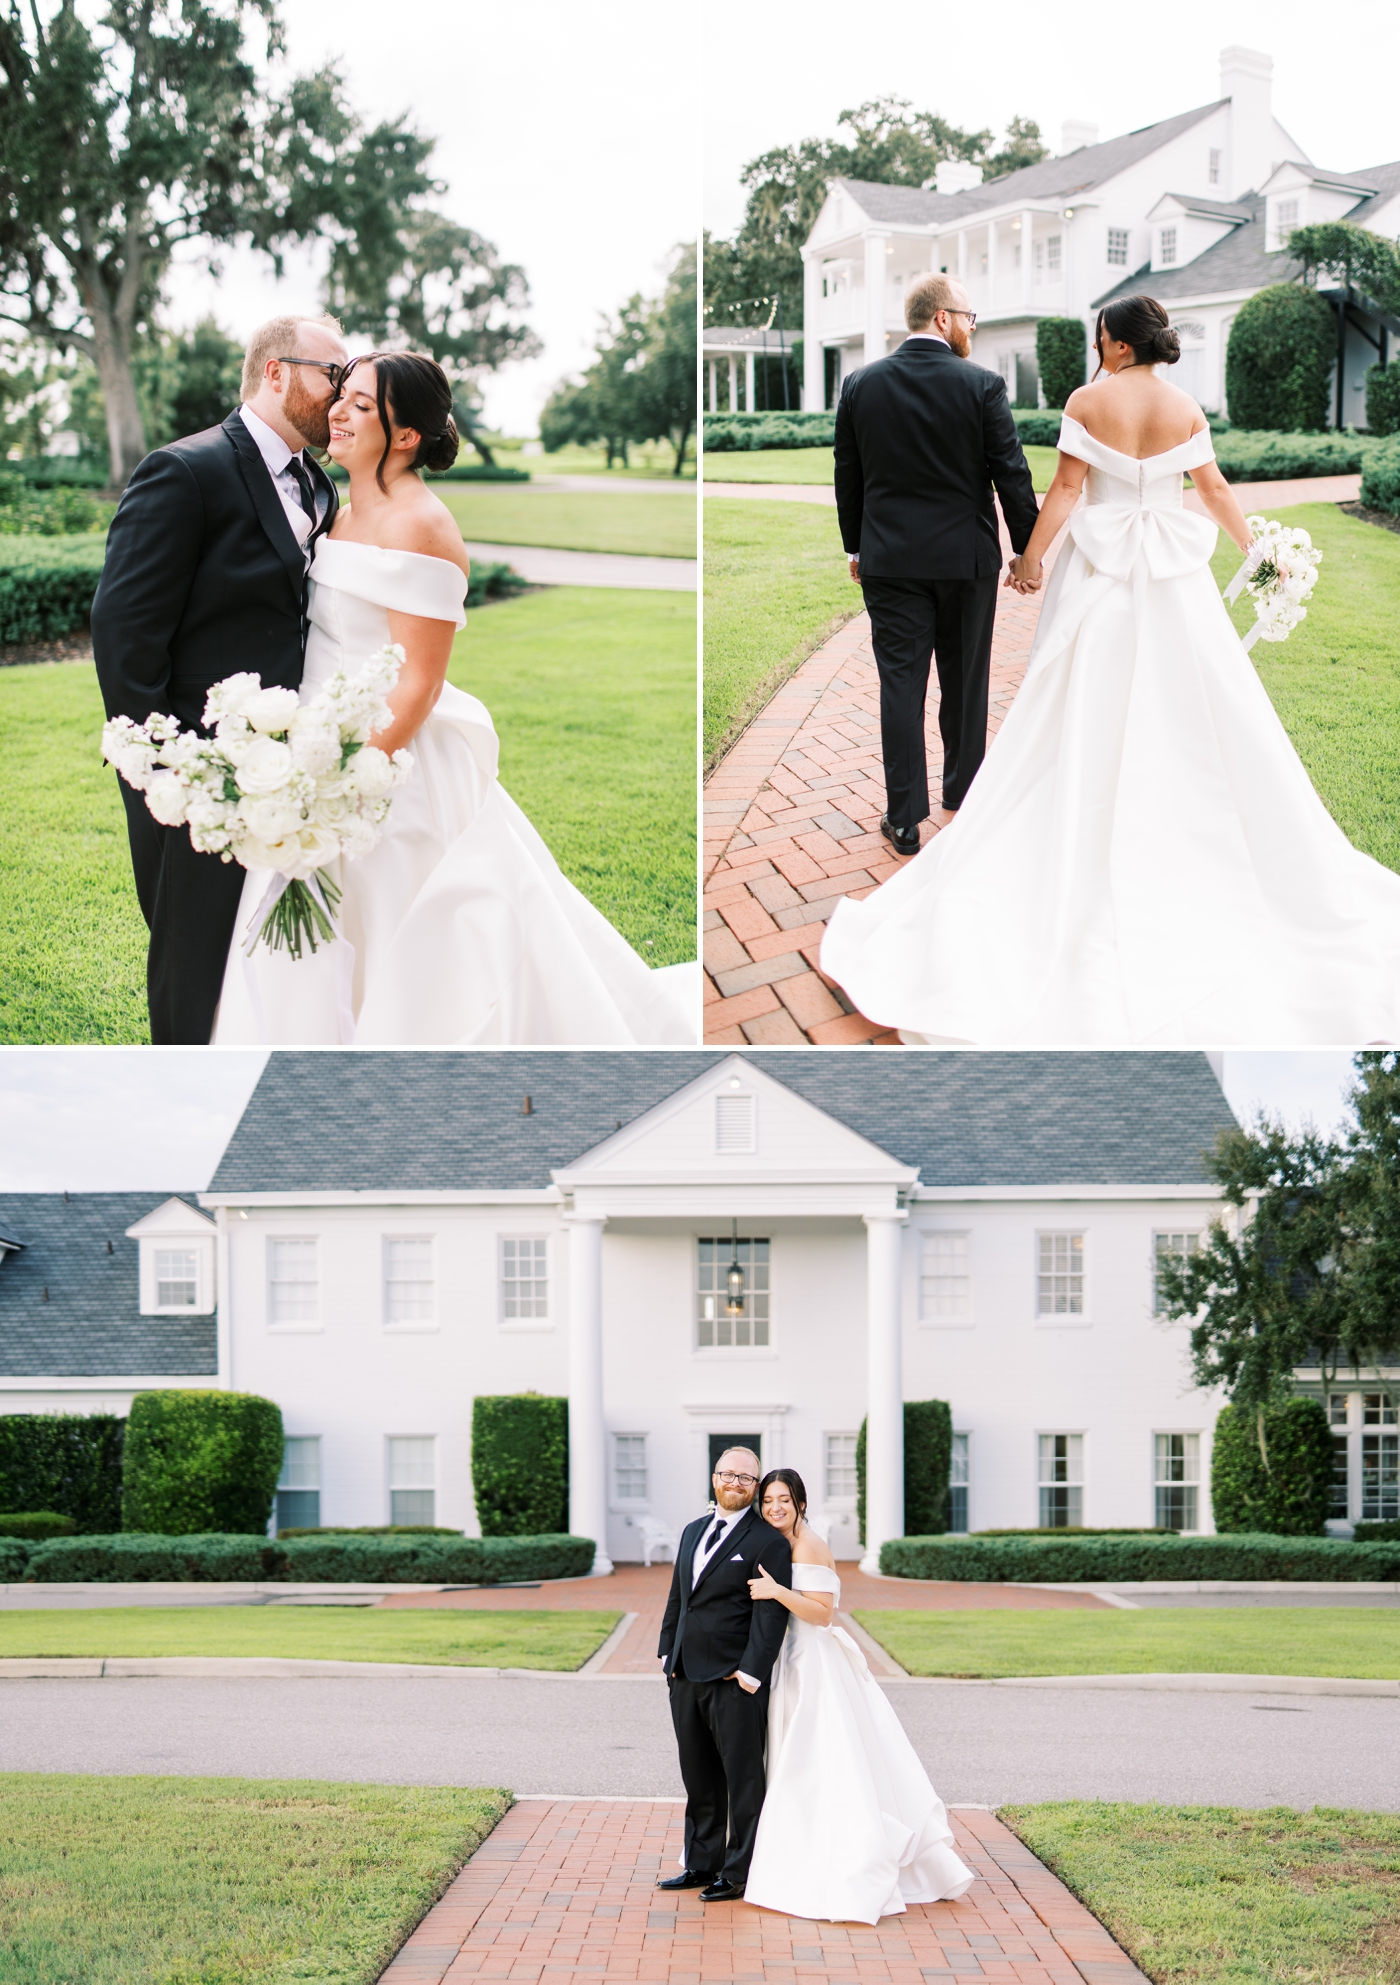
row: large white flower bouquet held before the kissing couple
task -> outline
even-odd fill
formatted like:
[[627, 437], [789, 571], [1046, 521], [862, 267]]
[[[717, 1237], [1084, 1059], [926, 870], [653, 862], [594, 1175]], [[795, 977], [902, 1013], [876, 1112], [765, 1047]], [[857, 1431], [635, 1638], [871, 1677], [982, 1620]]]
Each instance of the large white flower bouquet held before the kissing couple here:
[[381, 647], [357, 675], [332, 675], [310, 703], [294, 689], [264, 689], [256, 675], [230, 675], [205, 703], [210, 738], [161, 713], [103, 727], [103, 758], [163, 826], [187, 826], [201, 854], [276, 871], [256, 933], [272, 951], [300, 959], [318, 937], [336, 937], [340, 887], [326, 863], [373, 848], [393, 788], [413, 770], [409, 752], [369, 744], [393, 721], [387, 697], [401, 663], [401, 647]]

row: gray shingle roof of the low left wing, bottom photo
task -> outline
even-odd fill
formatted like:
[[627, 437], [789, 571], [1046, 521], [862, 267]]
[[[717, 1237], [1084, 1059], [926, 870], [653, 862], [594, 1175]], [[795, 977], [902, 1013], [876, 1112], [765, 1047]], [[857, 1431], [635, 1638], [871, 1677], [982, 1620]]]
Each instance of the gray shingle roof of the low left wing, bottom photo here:
[[[0, 1376], [171, 1378], [218, 1370], [212, 1316], [141, 1316], [127, 1227], [193, 1193], [0, 1193]], [[111, 1241], [111, 1255], [107, 1243]], [[48, 1290], [48, 1300], [44, 1300]]]

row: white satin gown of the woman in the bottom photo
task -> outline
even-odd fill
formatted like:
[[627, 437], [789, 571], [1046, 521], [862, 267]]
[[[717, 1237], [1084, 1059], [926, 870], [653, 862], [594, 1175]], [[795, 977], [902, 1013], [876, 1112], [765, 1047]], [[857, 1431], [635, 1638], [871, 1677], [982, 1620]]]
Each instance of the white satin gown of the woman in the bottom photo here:
[[[824, 1564], [794, 1564], [794, 1592], [830, 1592]], [[838, 1626], [792, 1616], [769, 1697], [769, 1790], [745, 1900], [828, 1923], [878, 1923], [973, 1884], [947, 1808], [904, 1725]]]

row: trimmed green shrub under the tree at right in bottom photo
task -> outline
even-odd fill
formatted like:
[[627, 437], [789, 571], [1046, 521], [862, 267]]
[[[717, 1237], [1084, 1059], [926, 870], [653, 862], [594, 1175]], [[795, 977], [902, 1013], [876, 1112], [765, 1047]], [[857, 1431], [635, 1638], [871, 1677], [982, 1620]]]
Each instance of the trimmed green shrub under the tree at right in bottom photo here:
[[1321, 1536], [1330, 1509], [1332, 1433], [1319, 1399], [1265, 1407], [1227, 1405], [1215, 1421], [1211, 1509], [1221, 1532]]

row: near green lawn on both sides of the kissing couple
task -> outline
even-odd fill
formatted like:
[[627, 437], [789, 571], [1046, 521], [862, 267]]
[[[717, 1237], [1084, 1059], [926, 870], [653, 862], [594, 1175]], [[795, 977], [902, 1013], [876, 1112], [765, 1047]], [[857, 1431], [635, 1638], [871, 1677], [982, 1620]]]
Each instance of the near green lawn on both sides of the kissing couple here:
[[[612, 500], [612, 498], [604, 498]], [[649, 965], [695, 957], [695, 599], [552, 588], [469, 615], [500, 774]], [[91, 663], [0, 669], [0, 1042], [145, 1042], [145, 925]]]

